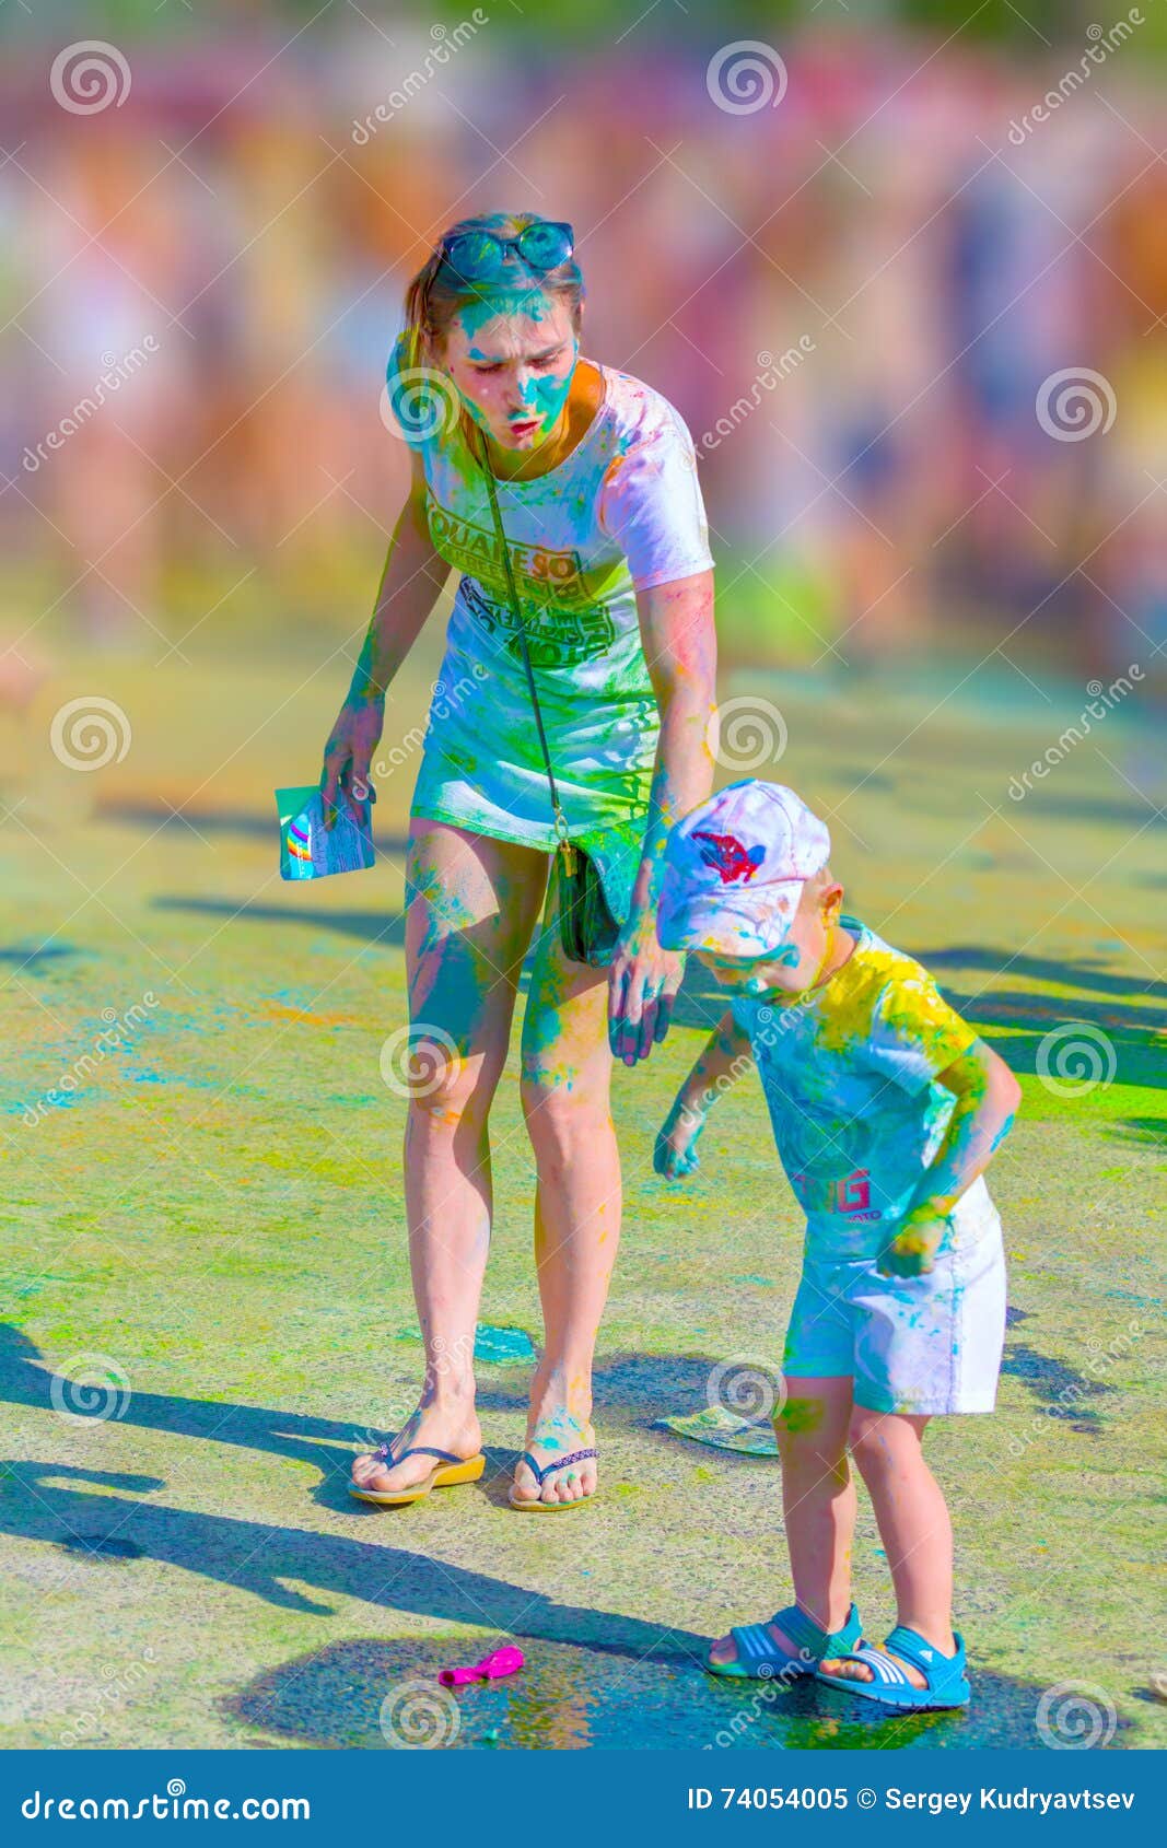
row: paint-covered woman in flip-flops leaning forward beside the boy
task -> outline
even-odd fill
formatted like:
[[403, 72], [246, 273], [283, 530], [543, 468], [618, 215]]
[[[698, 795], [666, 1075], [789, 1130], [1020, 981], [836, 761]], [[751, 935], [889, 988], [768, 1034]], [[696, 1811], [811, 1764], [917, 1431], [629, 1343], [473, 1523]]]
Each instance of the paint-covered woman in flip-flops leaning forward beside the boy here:
[[[490, 1101], [547, 893], [551, 800], [492, 525], [483, 445], [570, 835], [634, 819], [603, 861], [621, 922], [608, 968], [564, 955], [547, 900], [522, 1031], [546, 1342], [510, 1504], [596, 1489], [592, 1356], [620, 1234], [612, 1057], [664, 1039], [682, 957], [657, 942], [671, 822], [712, 787], [712, 558], [694, 445], [657, 392], [579, 353], [570, 225], [498, 213], [453, 225], [405, 298], [390, 403], [412, 447], [377, 606], [324, 756], [326, 813], [370, 776], [385, 689], [448, 569], [462, 571], [411, 808], [405, 1205], [425, 1380], [353, 1493], [412, 1501], [483, 1471], [473, 1331], [490, 1242]], [[453, 693], [451, 702], [451, 689]]]

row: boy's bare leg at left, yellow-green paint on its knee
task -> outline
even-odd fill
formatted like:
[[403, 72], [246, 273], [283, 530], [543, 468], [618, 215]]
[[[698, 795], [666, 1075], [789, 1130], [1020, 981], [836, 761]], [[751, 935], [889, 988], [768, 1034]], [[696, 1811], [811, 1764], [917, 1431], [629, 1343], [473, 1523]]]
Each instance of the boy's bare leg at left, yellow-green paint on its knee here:
[[[840, 1630], [851, 1608], [851, 1379], [788, 1379], [786, 1404], [775, 1416], [793, 1599], [821, 1630]], [[799, 1654], [782, 1630], [766, 1628], [780, 1648]], [[712, 1645], [710, 1661], [734, 1661], [736, 1654], [732, 1635], [723, 1635]]]

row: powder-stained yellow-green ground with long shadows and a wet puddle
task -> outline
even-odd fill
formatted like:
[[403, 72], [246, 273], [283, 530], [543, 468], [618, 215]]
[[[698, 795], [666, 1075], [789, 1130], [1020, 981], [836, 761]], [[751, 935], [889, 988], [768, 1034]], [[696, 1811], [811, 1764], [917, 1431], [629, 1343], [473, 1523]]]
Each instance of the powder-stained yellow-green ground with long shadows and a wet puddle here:
[[[1025, 1087], [991, 1175], [1012, 1303], [999, 1410], [928, 1440], [975, 1704], [897, 1720], [825, 1689], [712, 1684], [697, 1665], [708, 1635], [788, 1602], [777, 1465], [651, 1425], [701, 1408], [719, 1362], [773, 1364], [799, 1264], [753, 1077], [706, 1127], [690, 1181], [653, 1175], [655, 1129], [712, 1015], [701, 983], [647, 1064], [616, 1074], [625, 1238], [601, 1331], [597, 1502], [510, 1514], [527, 1368], [492, 1362], [479, 1486], [396, 1512], [348, 1497], [353, 1449], [396, 1429], [416, 1388], [405, 1101], [381, 1048], [405, 1022], [411, 730], [436, 656], [425, 641], [390, 706], [379, 865], [292, 887], [272, 789], [316, 776], [346, 680], [329, 656], [76, 656], [24, 719], [0, 721], [15, 806], [0, 830], [15, 1645], [0, 1743], [379, 1748], [411, 1728], [457, 1746], [1043, 1750], [1050, 1728], [1071, 1745], [1163, 1743], [1152, 723], [1110, 713], [1026, 791], [1021, 772], [1082, 687], [1047, 704], [1006, 669], [958, 687], [964, 667], [723, 680], [723, 699], [768, 700], [788, 728], [780, 763], [738, 739], [740, 772], [792, 782], [829, 815], [849, 906], [932, 965]], [[68, 769], [50, 721], [94, 693], [128, 721], [126, 750]], [[1084, 1046], [1076, 1079], [1065, 1040]], [[514, 1059], [492, 1131], [483, 1319], [538, 1340]], [[878, 1637], [893, 1613], [866, 1508], [854, 1573]], [[510, 1637], [522, 1674], [438, 1696], [440, 1665]]]

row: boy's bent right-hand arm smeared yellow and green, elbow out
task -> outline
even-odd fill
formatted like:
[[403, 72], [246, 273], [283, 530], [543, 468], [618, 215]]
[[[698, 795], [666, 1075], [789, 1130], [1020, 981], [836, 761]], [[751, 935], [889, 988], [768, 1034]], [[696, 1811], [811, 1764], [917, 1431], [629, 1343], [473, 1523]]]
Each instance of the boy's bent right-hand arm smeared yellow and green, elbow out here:
[[932, 1270], [952, 1207], [988, 1168], [1021, 1103], [1021, 1085], [980, 1039], [938, 1072], [936, 1083], [954, 1094], [956, 1105], [915, 1199], [880, 1258], [884, 1275], [915, 1277]]

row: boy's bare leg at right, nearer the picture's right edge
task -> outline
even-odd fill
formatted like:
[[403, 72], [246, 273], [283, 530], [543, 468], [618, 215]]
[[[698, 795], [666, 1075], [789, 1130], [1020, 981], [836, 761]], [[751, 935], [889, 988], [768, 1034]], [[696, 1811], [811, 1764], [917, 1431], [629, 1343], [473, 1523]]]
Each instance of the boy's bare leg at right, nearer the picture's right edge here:
[[[932, 1643], [941, 1656], [956, 1650], [952, 1635], [952, 1523], [921, 1449], [927, 1417], [871, 1412], [856, 1404], [851, 1454], [871, 1495], [878, 1534], [891, 1567], [897, 1621]], [[895, 1658], [899, 1661], [899, 1658]], [[869, 1682], [864, 1661], [825, 1661], [829, 1674]], [[901, 1663], [914, 1687], [927, 1687], [919, 1669]]]

